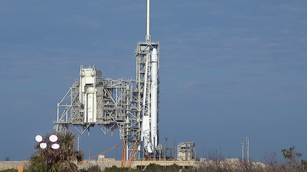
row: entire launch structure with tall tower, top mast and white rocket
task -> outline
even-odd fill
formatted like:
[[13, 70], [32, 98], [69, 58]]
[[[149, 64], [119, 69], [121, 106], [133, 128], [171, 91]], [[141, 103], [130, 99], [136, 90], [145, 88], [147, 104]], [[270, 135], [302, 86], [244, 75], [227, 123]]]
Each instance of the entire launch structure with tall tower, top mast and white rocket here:
[[[154, 156], [159, 143], [159, 42], [151, 41], [150, 0], [147, 0], [147, 34], [137, 43], [136, 80], [103, 78], [96, 66], [80, 66], [80, 79], [57, 104], [56, 131], [69, 126], [81, 134], [99, 126], [104, 134], [119, 129], [126, 140], [126, 157], [136, 141]], [[142, 158], [136, 151], [136, 158]]]

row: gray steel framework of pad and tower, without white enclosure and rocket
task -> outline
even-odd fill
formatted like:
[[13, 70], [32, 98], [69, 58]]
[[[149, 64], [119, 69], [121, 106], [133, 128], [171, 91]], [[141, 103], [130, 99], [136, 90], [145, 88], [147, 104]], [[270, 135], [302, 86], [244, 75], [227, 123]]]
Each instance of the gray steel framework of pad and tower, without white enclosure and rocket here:
[[[151, 63], [150, 54], [153, 48], [159, 50], [159, 42], [151, 41], [146, 43], [140, 41], [134, 51], [137, 60], [137, 79], [132, 80], [112, 80], [110, 78], [103, 79], [96, 78], [95, 92], [96, 92], [96, 108], [97, 115], [95, 122], [88, 122], [84, 120], [84, 112], [86, 107], [80, 103], [80, 80], [75, 80], [72, 87], [64, 95], [61, 101], [57, 104], [57, 118], [54, 129], [56, 131], [68, 130], [69, 126], [73, 126], [81, 134], [95, 125], [103, 131], [104, 134], [111, 131], [113, 135], [114, 129], [119, 129], [119, 137], [122, 140], [127, 140], [129, 144], [128, 150], [131, 150], [135, 140], [142, 140], [150, 142], [150, 147], [157, 147], [152, 144], [150, 139], [150, 132], [147, 136], [141, 138], [142, 117], [150, 117], [150, 80], [151, 80]], [[88, 67], [82, 69], [99, 70]], [[99, 70], [100, 71], [100, 70]], [[84, 77], [80, 72], [80, 78]], [[134, 88], [134, 83], [136, 87]], [[158, 131], [157, 131], [158, 132]], [[158, 134], [157, 134], [158, 136]], [[158, 137], [157, 143], [158, 143]], [[128, 157], [128, 156], [127, 156]]]

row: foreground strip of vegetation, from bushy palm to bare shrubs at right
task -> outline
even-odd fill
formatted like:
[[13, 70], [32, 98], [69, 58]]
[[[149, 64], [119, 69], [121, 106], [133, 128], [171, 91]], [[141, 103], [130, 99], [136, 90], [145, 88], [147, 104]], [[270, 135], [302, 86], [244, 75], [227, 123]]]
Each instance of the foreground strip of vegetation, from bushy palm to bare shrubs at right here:
[[[44, 136], [57, 135], [58, 149], [51, 146], [41, 148], [40, 143], [35, 144], [35, 153], [29, 158], [29, 165], [25, 172], [307, 172], [307, 160], [300, 159], [302, 153], [295, 150], [295, 146], [281, 150], [284, 161], [277, 160], [277, 153], [266, 157], [266, 162], [255, 163], [253, 161], [239, 160], [227, 161], [222, 156], [212, 154], [206, 161], [196, 161], [195, 166], [183, 168], [173, 164], [160, 166], [150, 164], [145, 169], [120, 168], [116, 166], [102, 169], [99, 166], [91, 166], [87, 169], [78, 169], [77, 164], [82, 163], [84, 153], [76, 151], [76, 134], [67, 132], [49, 133]], [[48, 163], [47, 163], [48, 160]], [[48, 166], [47, 166], [48, 164]], [[18, 172], [16, 169], [0, 170], [0, 172]]]

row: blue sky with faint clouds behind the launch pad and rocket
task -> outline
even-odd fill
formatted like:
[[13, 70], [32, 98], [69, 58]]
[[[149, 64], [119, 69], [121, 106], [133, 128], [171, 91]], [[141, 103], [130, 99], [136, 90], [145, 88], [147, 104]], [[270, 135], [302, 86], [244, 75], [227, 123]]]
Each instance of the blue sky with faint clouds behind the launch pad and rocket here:
[[[152, 0], [160, 140], [195, 141], [200, 158], [210, 150], [238, 158], [249, 136], [255, 161], [292, 145], [306, 159], [306, 8], [305, 0]], [[0, 22], [0, 161], [26, 160], [35, 135], [53, 131], [56, 103], [80, 65], [135, 78], [146, 1], [2, 0]], [[90, 144], [96, 155], [120, 142], [118, 131], [94, 127], [80, 150], [87, 158]]]

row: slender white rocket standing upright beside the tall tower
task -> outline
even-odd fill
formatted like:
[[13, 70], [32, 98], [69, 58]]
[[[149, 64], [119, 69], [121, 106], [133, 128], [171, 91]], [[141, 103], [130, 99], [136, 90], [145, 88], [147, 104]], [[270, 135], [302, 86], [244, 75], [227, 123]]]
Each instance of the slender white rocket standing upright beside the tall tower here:
[[158, 53], [157, 49], [153, 48], [151, 53], [151, 143], [157, 148], [157, 121], [158, 121]]

